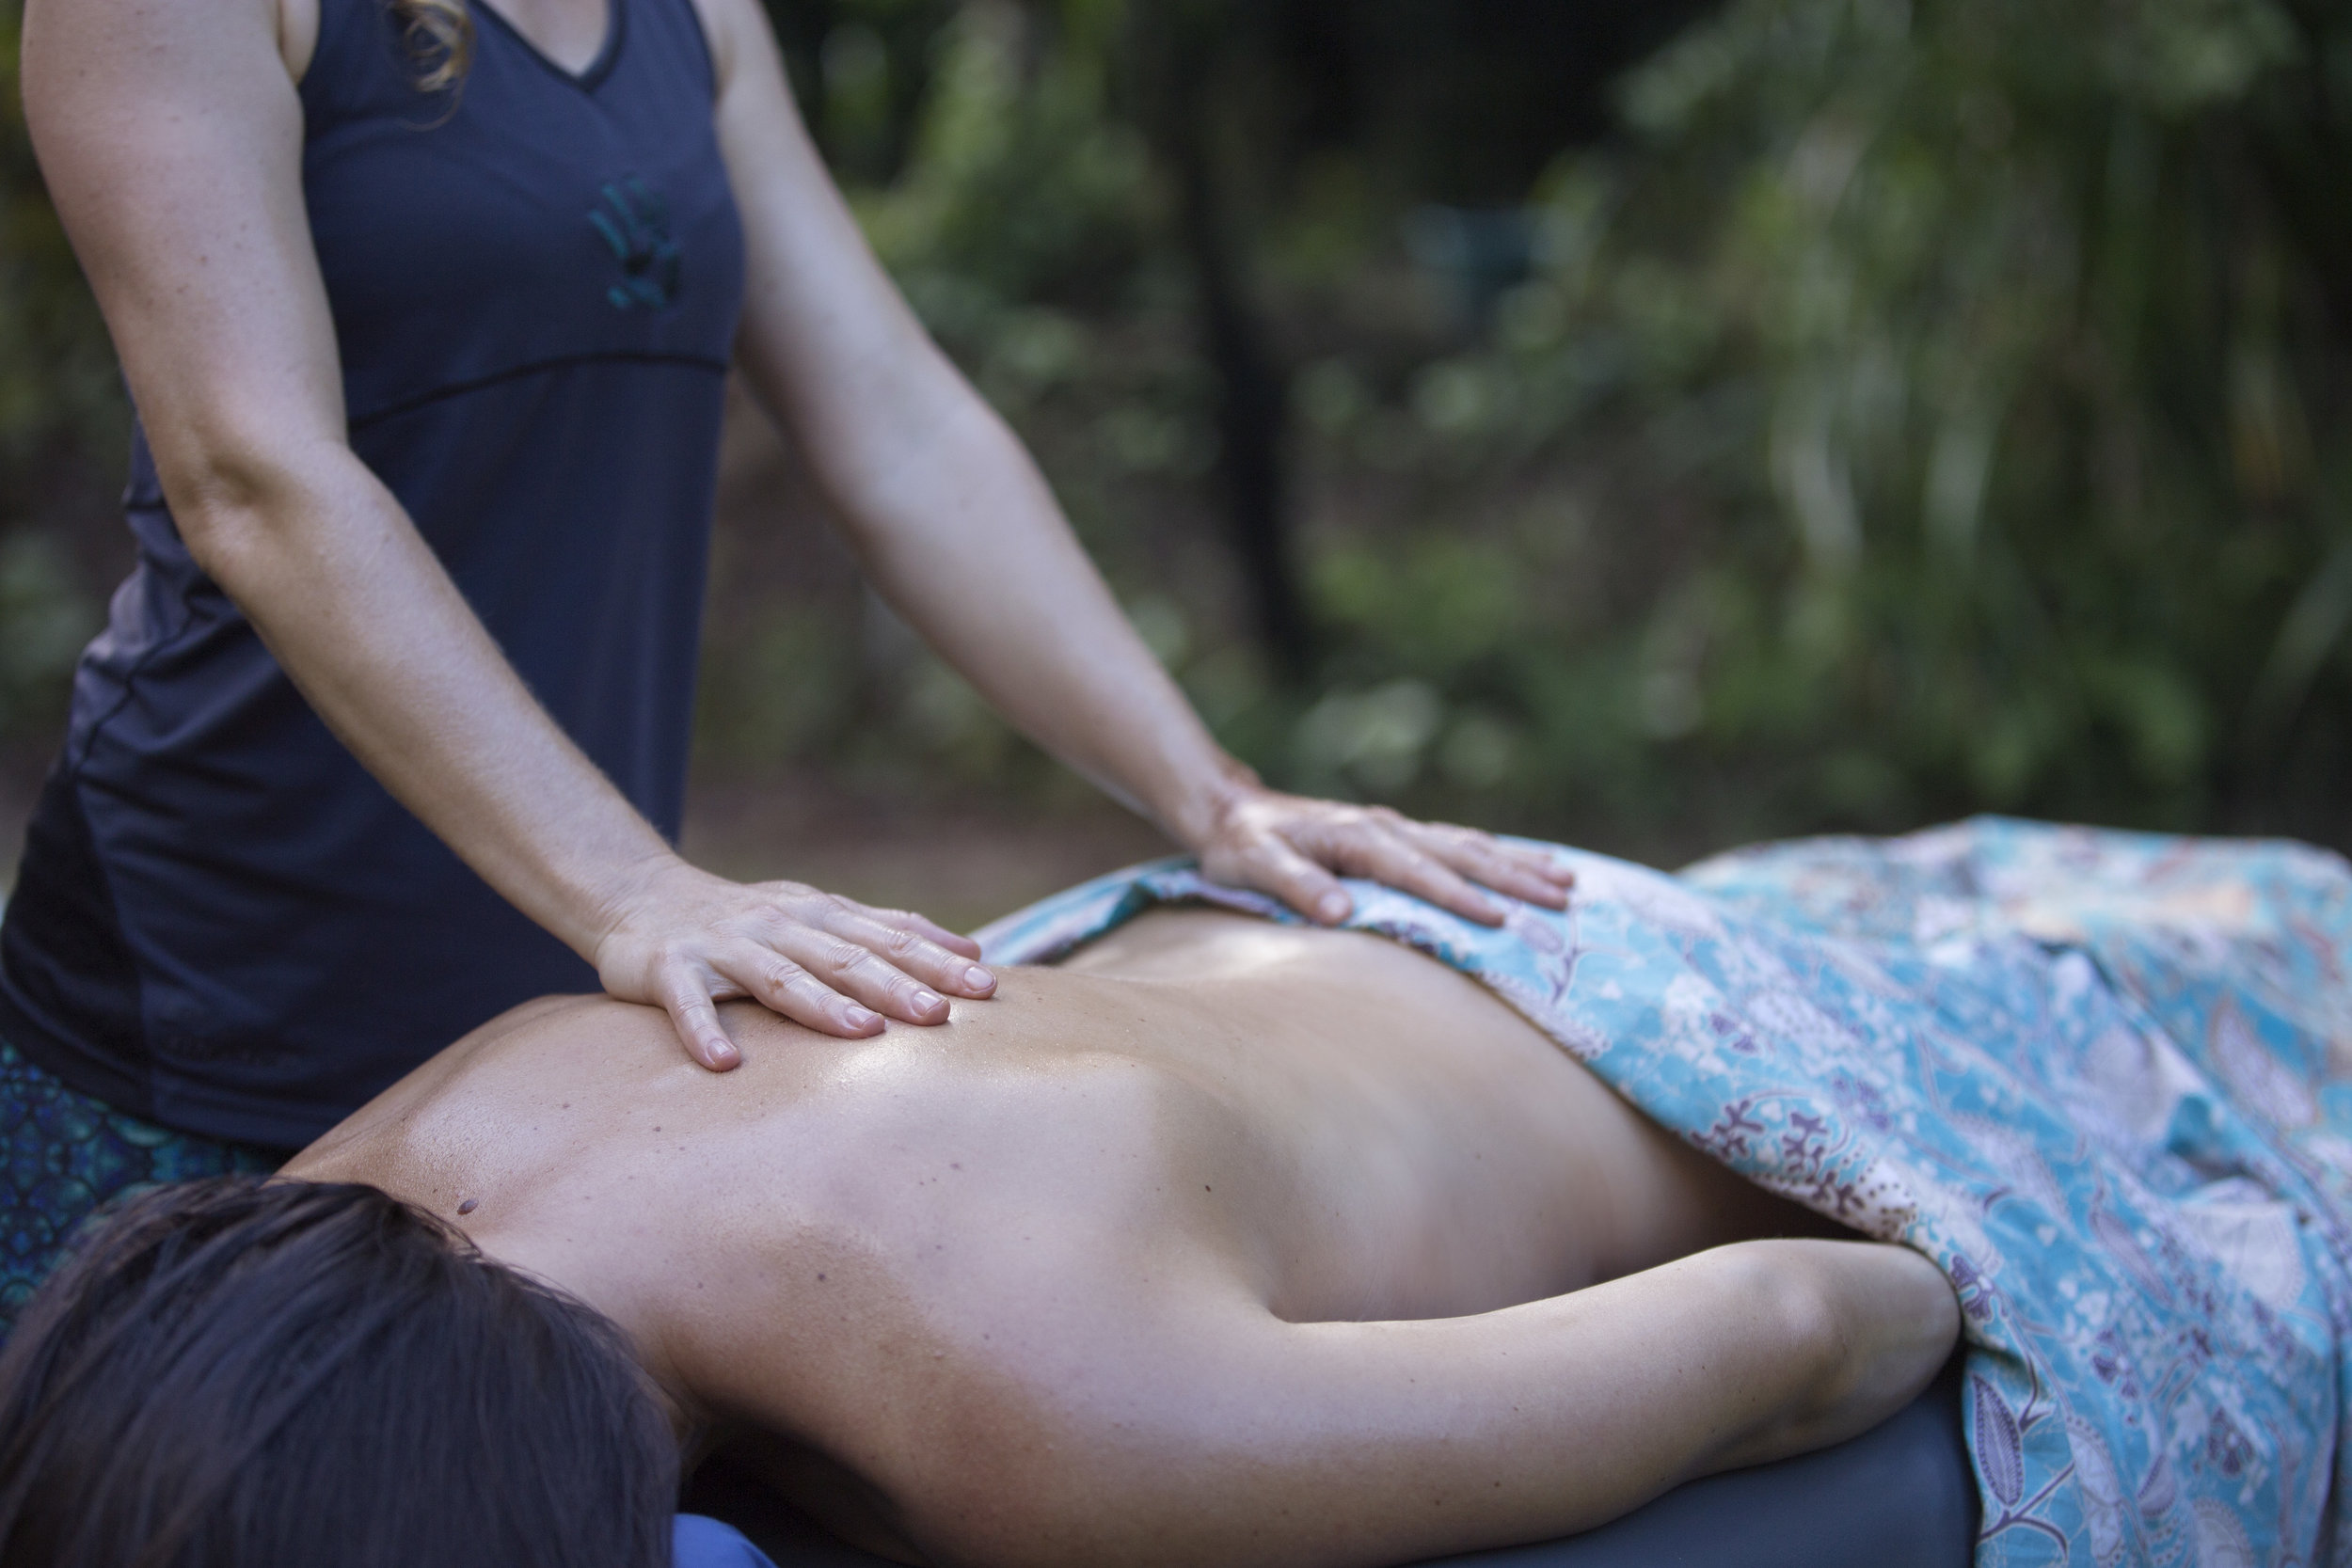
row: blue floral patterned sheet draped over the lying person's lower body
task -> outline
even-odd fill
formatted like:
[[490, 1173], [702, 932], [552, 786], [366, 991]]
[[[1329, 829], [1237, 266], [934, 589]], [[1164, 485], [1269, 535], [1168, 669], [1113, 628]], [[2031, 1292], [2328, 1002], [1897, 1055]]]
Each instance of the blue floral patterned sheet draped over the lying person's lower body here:
[[[1352, 926], [1484, 980], [1661, 1126], [1933, 1258], [1969, 1335], [1980, 1568], [2352, 1563], [2352, 870], [2277, 842], [1980, 818], [1677, 877], [1557, 851], [1501, 931]], [[1035, 964], [1185, 863], [985, 931]]]

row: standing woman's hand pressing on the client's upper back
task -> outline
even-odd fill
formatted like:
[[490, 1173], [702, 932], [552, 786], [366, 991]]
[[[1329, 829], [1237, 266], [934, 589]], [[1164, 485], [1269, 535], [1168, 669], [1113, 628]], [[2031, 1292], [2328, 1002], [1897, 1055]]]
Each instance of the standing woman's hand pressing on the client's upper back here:
[[948, 1023], [948, 999], [981, 999], [997, 978], [978, 943], [903, 910], [870, 910], [800, 882], [727, 882], [684, 860], [644, 867], [612, 903], [597, 978], [621, 1001], [663, 1009], [703, 1067], [743, 1056], [720, 1001], [750, 999], [797, 1023], [858, 1039], [882, 1018]]

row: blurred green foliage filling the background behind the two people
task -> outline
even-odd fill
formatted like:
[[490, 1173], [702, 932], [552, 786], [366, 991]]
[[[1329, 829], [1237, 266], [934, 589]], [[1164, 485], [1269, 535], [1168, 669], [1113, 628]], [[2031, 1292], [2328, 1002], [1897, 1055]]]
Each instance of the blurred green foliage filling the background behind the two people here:
[[[120, 409], [9, 5], [24, 729], [89, 621], [59, 475]], [[1969, 809], [2352, 842], [2340, 7], [1729, 0], [1663, 47], [1691, 7], [771, 12], [884, 261], [1270, 778], [1644, 853]], [[1642, 59], [1566, 92], [1538, 33]], [[1305, 682], [1216, 522], [1171, 115], [1287, 386]], [[722, 538], [710, 766], [1065, 788], [835, 569], [755, 557]]]

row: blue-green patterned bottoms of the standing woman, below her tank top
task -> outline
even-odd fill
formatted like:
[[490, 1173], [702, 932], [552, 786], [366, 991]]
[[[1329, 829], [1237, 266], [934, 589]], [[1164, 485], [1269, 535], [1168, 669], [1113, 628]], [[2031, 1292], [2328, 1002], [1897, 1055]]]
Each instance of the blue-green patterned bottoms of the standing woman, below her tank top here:
[[125, 1117], [0, 1041], [0, 1340], [108, 1201], [205, 1175], [268, 1173], [292, 1157]]

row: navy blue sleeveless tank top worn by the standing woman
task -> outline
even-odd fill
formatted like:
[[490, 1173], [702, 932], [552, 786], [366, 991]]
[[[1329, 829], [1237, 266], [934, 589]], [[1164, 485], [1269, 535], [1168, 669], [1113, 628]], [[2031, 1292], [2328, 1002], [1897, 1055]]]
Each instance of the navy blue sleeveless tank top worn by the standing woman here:
[[[350, 444], [557, 724], [677, 832], [743, 235], [691, 0], [607, 0], [569, 75], [487, 7], [426, 96], [322, 0], [303, 195]], [[301, 1145], [595, 973], [325, 729], [191, 562], [143, 440], [139, 567], [0, 929], [0, 1037], [172, 1128]]]

